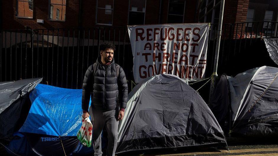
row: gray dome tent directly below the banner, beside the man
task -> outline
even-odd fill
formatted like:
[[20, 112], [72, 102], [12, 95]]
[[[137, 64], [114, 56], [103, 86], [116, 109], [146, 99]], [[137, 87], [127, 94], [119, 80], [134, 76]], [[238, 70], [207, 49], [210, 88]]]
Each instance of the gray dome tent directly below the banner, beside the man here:
[[156, 75], [129, 93], [117, 153], [226, 145], [224, 133], [201, 96], [175, 75]]

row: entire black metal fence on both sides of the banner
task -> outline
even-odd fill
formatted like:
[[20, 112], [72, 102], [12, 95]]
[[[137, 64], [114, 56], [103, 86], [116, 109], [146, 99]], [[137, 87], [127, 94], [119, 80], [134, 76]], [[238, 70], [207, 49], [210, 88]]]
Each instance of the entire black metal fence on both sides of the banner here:
[[[277, 37], [277, 23], [223, 24], [218, 73], [234, 75], [261, 65], [274, 66], [262, 38]], [[209, 32], [207, 77], [214, 64], [217, 26], [212, 24]], [[115, 62], [123, 67], [132, 88], [133, 56], [126, 27], [1, 30], [0, 81], [43, 77], [45, 84], [81, 88], [102, 42], [116, 45]]]

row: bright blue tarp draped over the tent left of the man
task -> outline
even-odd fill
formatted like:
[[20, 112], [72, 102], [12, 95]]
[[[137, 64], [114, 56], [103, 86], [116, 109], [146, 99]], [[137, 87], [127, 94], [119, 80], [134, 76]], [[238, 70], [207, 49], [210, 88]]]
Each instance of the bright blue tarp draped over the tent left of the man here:
[[76, 136], [82, 124], [81, 99], [82, 89], [38, 84], [30, 93], [32, 106], [19, 132]]

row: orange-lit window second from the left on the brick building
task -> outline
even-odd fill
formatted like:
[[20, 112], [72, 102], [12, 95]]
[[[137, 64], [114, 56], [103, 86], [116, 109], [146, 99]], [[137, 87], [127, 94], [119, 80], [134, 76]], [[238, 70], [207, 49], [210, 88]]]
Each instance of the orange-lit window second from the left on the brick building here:
[[66, 0], [50, 0], [49, 6], [49, 19], [59, 21], [66, 20]]

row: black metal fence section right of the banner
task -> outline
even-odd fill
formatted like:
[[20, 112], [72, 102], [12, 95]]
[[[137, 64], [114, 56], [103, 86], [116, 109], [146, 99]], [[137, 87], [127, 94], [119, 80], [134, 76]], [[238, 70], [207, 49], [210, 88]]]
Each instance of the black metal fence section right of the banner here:
[[[259, 21], [223, 24], [218, 60], [218, 75], [234, 76], [251, 68], [277, 66], [269, 57], [264, 38], [278, 36], [278, 22]], [[206, 74], [213, 71], [218, 24], [212, 24], [208, 44]]]

